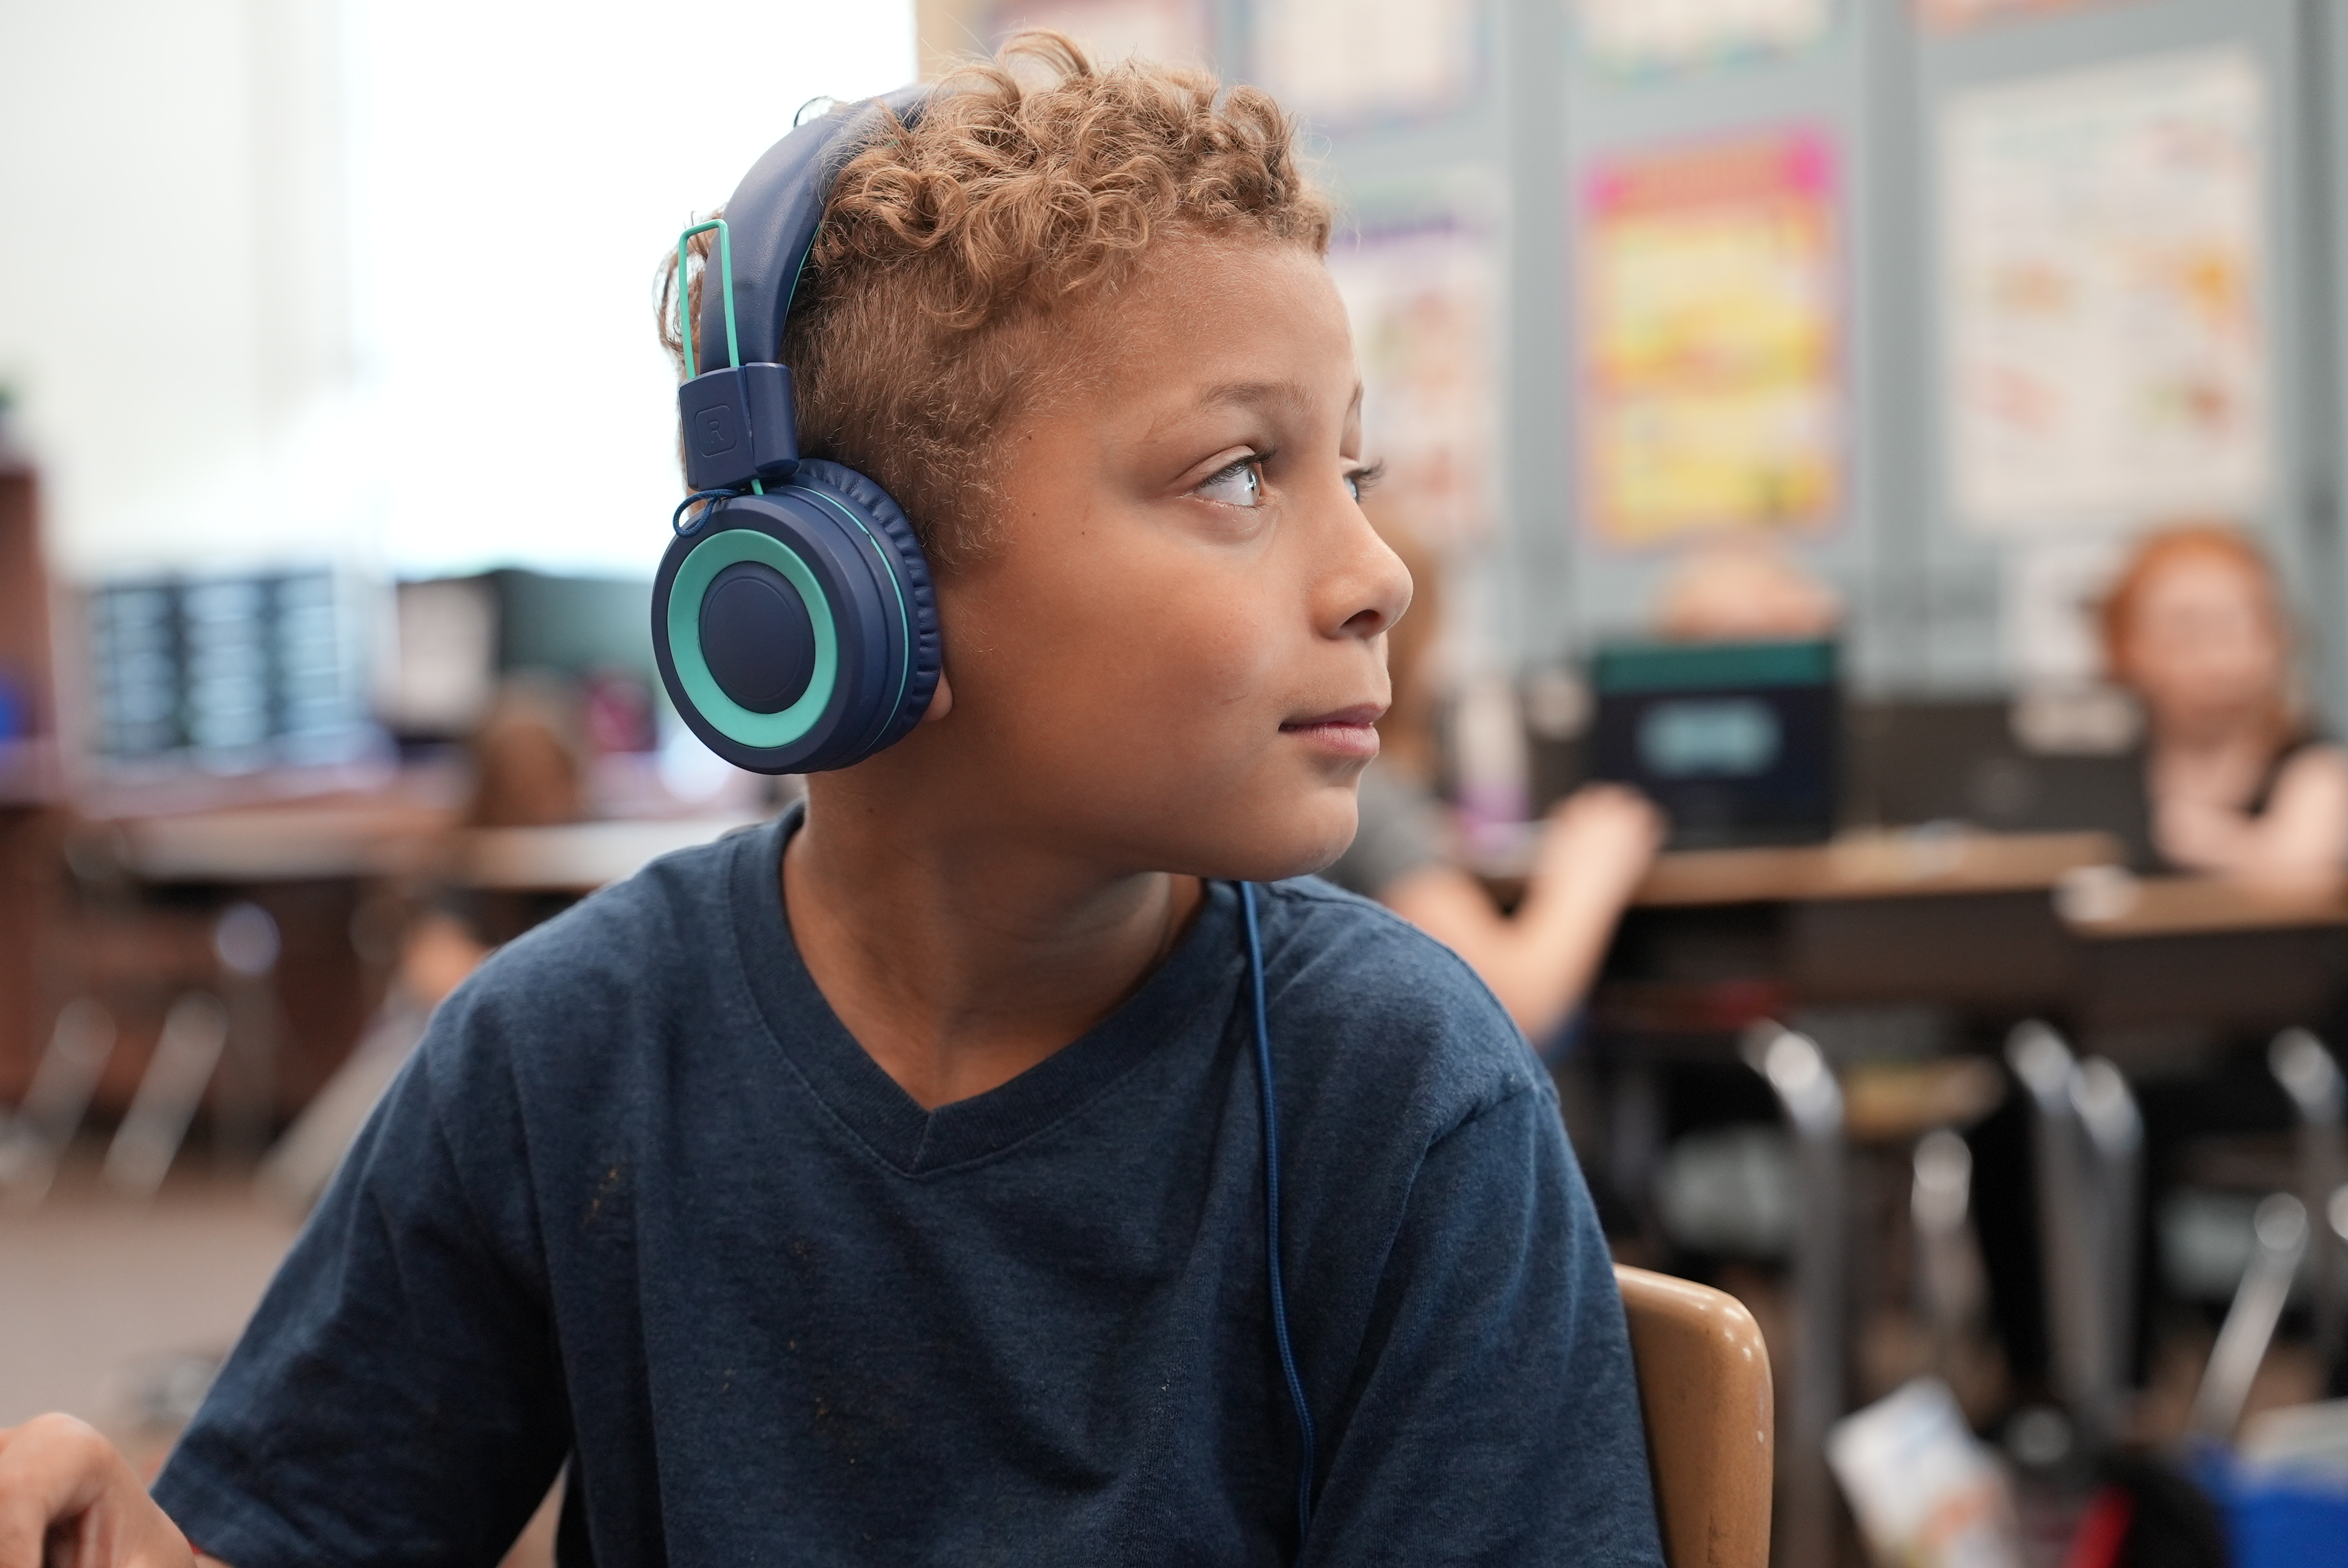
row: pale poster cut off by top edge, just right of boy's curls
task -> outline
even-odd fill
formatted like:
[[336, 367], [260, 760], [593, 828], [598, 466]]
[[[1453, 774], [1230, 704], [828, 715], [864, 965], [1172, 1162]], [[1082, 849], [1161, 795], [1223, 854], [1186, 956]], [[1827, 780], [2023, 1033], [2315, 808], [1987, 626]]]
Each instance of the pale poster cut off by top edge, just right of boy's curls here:
[[1484, 0], [1259, 0], [1256, 82], [1320, 129], [1425, 120], [1484, 82]]

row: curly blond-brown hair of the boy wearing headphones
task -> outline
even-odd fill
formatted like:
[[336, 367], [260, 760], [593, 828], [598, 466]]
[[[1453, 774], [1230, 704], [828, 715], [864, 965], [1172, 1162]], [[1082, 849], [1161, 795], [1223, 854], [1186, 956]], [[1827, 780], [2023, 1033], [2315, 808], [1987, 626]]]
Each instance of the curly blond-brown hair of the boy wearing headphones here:
[[[780, 345], [801, 453], [878, 479], [951, 568], [993, 540], [996, 437], [1082, 380], [1085, 303], [1172, 235], [1322, 254], [1329, 225], [1270, 96], [1019, 33], [841, 167]], [[672, 258], [660, 322], [681, 364], [674, 286]], [[686, 300], [697, 326], [697, 265]]]

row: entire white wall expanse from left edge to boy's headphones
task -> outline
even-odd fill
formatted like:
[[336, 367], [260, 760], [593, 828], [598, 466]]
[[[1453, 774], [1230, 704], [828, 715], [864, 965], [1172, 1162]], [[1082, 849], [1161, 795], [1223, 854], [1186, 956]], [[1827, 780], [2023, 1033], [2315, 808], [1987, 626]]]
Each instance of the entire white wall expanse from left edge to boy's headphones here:
[[662, 249], [803, 101], [911, 75], [895, 0], [0, 0], [52, 561], [648, 575]]

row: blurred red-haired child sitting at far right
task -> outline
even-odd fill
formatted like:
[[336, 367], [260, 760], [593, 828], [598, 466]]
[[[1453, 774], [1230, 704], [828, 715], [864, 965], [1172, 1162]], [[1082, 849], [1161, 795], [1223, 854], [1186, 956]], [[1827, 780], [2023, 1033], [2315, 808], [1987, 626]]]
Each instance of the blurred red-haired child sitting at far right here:
[[2256, 545], [2146, 538], [2104, 599], [2104, 657], [2146, 716], [2155, 864], [2322, 892], [2348, 869], [2348, 756], [2292, 690], [2292, 627]]

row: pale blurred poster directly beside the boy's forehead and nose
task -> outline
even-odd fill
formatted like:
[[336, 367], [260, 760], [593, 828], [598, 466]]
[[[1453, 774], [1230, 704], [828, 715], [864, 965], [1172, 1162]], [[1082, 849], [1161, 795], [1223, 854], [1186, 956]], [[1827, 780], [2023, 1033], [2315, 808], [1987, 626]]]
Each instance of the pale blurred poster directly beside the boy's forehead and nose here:
[[1369, 207], [1329, 246], [1362, 361], [1381, 498], [1430, 545], [1489, 540], [1500, 509], [1498, 202]]

